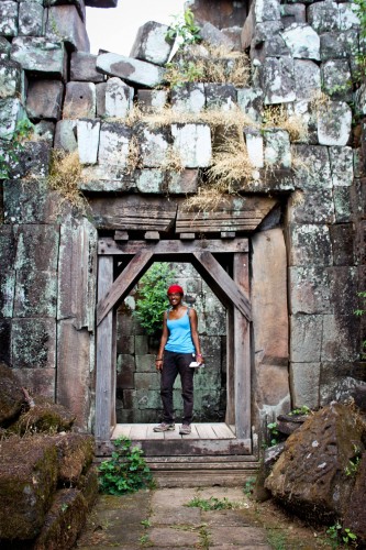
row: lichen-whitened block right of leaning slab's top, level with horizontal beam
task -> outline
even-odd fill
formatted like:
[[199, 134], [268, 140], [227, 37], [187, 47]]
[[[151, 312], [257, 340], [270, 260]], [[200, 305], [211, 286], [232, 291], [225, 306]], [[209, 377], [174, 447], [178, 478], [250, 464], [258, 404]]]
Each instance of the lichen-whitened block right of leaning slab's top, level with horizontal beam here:
[[290, 224], [289, 265], [332, 265], [332, 243], [326, 226]]

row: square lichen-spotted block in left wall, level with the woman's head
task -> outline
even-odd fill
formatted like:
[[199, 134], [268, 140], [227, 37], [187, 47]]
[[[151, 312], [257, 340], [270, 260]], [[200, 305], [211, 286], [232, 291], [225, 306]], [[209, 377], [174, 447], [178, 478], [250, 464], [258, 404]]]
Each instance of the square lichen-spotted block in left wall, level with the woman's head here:
[[15, 317], [55, 317], [56, 304], [55, 272], [18, 273], [13, 311]]

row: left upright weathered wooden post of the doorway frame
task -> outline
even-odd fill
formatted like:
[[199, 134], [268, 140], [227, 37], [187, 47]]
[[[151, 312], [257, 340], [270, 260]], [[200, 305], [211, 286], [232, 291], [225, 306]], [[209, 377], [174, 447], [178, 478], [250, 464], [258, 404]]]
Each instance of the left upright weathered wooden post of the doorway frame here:
[[[99, 256], [98, 299], [101, 299], [113, 284], [113, 256]], [[97, 380], [96, 380], [96, 440], [110, 439], [112, 406], [114, 404], [114, 348], [113, 310], [97, 327]]]

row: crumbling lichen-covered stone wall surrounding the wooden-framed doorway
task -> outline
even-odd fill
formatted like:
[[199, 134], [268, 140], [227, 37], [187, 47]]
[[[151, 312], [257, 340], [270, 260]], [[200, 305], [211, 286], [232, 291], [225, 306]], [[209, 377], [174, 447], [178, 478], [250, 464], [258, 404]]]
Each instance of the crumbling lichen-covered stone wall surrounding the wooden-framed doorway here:
[[[364, 45], [354, 6], [255, 0], [232, 2], [229, 13], [221, 2], [214, 10], [203, 0], [189, 4], [207, 42], [249, 53], [251, 85], [198, 82], [169, 94], [156, 89], [170, 47], [164, 25], [146, 24], [131, 57], [95, 56], [82, 0], [0, 1], [0, 146], [9, 168], [1, 182], [1, 359], [24, 386], [69, 407], [89, 430], [98, 235], [181, 238], [181, 204], [198, 193], [212, 156], [209, 123], [127, 125], [135, 100], [196, 113], [212, 103], [223, 111], [239, 106], [253, 120], [243, 128], [253, 173], [236, 182], [242, 198], [229, 197], [231, 221], [208, 213], [199, 232], [251, 242], [255, 429], [266, 417], [317, 408], [365, 384], [362, 323], [353, 315], [365, 290], [366, 229], [366, 88], [354, 84]], [[270, 106], [296, 116], [307, 132], [295, 139], [288, 127], [264, 129]], [[25, 116], [34, 132], [14, 156]], [[129, 174], [136, 143], [138, 168]], [[47, 187], [53, 147], [78, 152], [88, 217]], [[164, 164], [171, 150], [181, 173]], [[251, 201], [260, 212], [269, 206], [245, 229], [240, 220]], [[138, 224], [133, 209], [149, 216]]]

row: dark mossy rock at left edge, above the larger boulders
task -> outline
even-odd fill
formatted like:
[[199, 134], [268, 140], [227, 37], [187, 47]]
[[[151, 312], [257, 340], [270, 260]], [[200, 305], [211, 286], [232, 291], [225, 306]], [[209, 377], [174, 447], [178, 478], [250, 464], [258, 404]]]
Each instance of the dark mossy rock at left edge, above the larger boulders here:
[[24, 394], [16, 377], [0, 363], [0, 426], [8, 426], [21, 413]]

